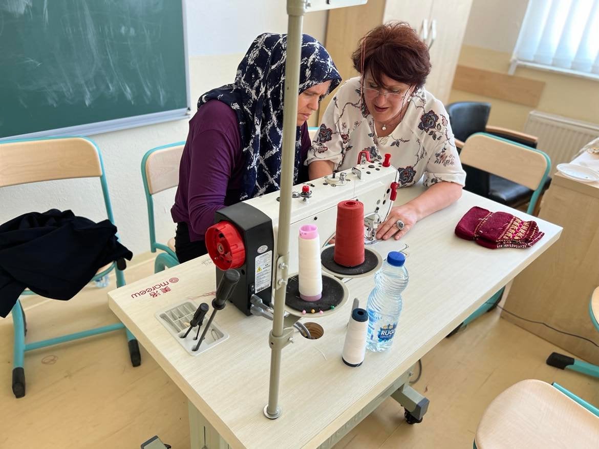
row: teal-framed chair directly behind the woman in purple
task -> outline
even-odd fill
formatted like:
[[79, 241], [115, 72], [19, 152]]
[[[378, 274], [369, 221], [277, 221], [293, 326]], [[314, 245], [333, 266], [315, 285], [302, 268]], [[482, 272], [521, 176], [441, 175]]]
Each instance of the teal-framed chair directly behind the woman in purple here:
[[176, 142], [159, 146], [149, 150], [141, 159], [141, 178], [146, 192], [150, 227], [150, 250], [161, 250], [154, 261], [155, 273], [179, 265], [174, 237], [166, 245], [156, 242], [153, 195], [179, 185], [179, 163], [184, 145], [185, 142]]

